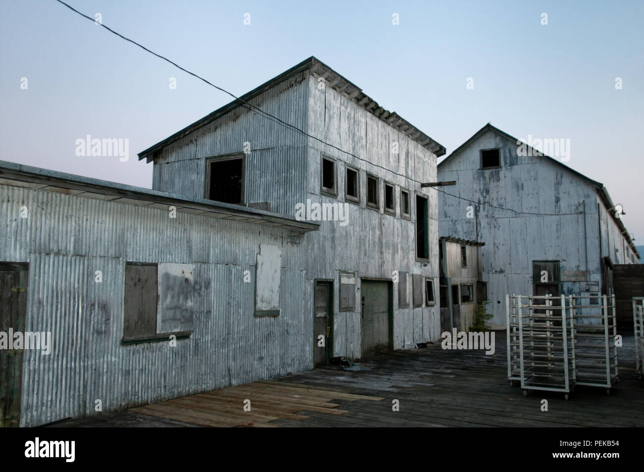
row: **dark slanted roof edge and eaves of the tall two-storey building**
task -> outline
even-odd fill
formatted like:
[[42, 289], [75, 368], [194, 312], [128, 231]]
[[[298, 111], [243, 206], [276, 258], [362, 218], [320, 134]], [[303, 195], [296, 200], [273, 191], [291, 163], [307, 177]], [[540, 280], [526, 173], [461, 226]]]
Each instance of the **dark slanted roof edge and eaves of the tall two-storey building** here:
[[[186, 126], [184, 129], [177, 131], [174, 135], [167, 137], [166, 139], [156, 143], [154, 146], [148, 147], [145, 151], [138, 153], [138, 159], [146, 159], [147, 162], [151, 162], [155, 159], [155, 151], [166, 147], [168, 144], [175, 142], [176, 140], [183, 138], [196, 129], [199, 129], [202, 126], [205, 126], [217, 118], [223, 117], [232, 110], [238, 108], [239, 106], [246, 106], [243, 102], [249, 102], [254, 97], [257, 97], [261, 93], [269, 90], [270, 88], [278, 85], [284, 80], [297, 75], [305, 70], [310, 70], [310, 73], [316, 77], [323, 77], [327, 82], [328, 86], [338, 91], [341, 95], [346, 97], [349, 100], [352, 100], [362, 108], [365, 108], [366, 111], [371, 113], [377, 118], [383, 120], [386, 124], [393, 127], [397, 131], [407, 135], [410, 139], [421, 144], [422, 147], [425, 147], [437, 157], [445, 155], [445, 147], [428, 137], [425, 133], [420, 131], [417, 127], [413, 126], [410, 122], [404, 120], [403, 117], [395, 113], [395, 111], [388, 111], [383, 107], [379, 106], [375, 100], [368, 97], [363, 93], [362, 89], [354, 85], [345, 77], [339, 75], [336, 71], [332, 70], [327, 64], [319, 61], [315, 57], [311, 56], [308, 59], [296, 64], [287, 71], [282, 72], [277, 77], [273, 77], [268, 82], [264, 82], [260, 86], [254, 88], [253, 90], [245, 93], [239, 99], [233, 100], [227, 105], [218, 108], [213, 113], [206, 115], [204, 118], [197, 120], [193, 124]], [[243, 100], [243, 101], [242, 101]]]

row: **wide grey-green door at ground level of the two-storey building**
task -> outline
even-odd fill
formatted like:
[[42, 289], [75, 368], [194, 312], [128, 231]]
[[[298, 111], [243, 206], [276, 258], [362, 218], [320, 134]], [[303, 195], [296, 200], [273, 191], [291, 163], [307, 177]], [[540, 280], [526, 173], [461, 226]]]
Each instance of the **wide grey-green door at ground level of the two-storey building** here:
[[392, 286], [390, 282], [362, 281], [362, 357], [393, 347]]

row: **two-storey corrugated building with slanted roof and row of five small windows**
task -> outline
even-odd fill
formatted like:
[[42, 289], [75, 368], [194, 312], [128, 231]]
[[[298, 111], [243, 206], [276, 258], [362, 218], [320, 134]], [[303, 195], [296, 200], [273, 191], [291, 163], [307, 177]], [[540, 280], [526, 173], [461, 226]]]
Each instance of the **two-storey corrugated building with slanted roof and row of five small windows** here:
[[439, 276], [437, 196], [421, 182], [436, 180], [444, 153], [310, 57], [139, 158], [154, 162], [155, 190], [320, 223], [303, 240], [304, 299], [315, 338], [330, 337], [323, 362], [440, 337], [439, 308], [426, 301]]

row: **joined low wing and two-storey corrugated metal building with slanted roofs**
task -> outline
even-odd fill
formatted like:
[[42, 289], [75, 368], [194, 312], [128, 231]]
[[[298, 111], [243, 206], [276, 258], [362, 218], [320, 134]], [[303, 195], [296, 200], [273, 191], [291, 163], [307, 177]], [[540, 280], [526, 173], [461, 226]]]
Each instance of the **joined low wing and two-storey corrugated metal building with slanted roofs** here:
[[0, 423], [439, 339], [444, 153], [311, 57], [140, 153], [152, 190], [1, 162], [0, 332], [51, 343], [0, 350]]

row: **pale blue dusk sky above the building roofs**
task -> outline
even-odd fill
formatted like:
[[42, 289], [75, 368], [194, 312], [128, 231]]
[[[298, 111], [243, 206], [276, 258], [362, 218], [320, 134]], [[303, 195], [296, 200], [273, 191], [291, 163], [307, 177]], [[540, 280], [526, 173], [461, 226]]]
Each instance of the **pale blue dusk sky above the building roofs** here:
[[[68, 3], [236, 95], [314, 55], [448, 154], [488, 121], [569, 138], [644, 241], [642, 1]], [[136, 153], [230, 101], [54, 0], [0, 1], [0, 99], [0, 159], [142, 187]], [[88, 134], [129, 161], [76, 156]]]

